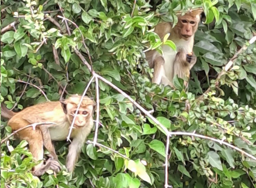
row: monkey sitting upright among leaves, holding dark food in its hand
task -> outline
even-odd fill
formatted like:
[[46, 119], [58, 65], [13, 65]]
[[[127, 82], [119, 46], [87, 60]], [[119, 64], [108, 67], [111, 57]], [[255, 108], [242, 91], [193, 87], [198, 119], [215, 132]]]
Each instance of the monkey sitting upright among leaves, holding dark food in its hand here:
[[[182, 48], [182, 53], [193, 54], [194, 36], [200, 22], [200, 14], [203, 10], [189, 11], [185, 15], [178, 15], [178, 23], [172, 28], [172, 23], [162, 22], [155, 26], [154, 32], [163, 40], [167, 33], [170, 33], [168, 40], [175, 43], [177, 49]], [[190, 60], [188, 69], [178, 68], [177, 62], [181, 52], [176, 57], [176, 52], [167, 45], [162, 46], [163, 55], [155, 50], [147, 51], [146, 60], [149, 67], [154, 68], [152, 83], [170, 85], [173, 87], [173, 77], [178, 75], [184, 77], [183, 71], [189, 71], [196, 63], [196, 56]], [[183, 56], [183, 55], [182, 55]], [[186, 55], [185, 55], [186, 56]], [[177, 59], [176, 59], [177, 58]], [[184, 60], [184, 59], [183, 59]], [[176, 63], [174, 63], [176, 61]], [[174, 68], [176, 64], [176, 68]], [[178, 73], [179, 72], [179, 73]], [[188, 73], [189, 76], [189, 73]]]

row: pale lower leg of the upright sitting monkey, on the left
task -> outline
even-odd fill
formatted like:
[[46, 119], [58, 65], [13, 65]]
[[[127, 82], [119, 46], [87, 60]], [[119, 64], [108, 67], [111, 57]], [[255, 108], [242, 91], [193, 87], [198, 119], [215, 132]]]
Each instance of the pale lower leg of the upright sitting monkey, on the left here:
[[154, 60], [154, 74], [152, 78], [152, 83], [161, 83], [162, 76], [165, 75], [165, 70], [164, 70], [164, 59], [162, 56], [158, 56]]

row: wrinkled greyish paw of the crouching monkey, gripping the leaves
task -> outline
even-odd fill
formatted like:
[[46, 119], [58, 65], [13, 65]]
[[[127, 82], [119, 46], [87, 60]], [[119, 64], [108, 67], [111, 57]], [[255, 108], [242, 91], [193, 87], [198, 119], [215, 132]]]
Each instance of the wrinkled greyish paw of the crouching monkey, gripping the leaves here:
[[35, 176], [42, 176], [47, 170], [53, 170], [55, 172], [60, 172], [61, 166], [58, 161], [52, 160], [51, 158], [46, 161], [46, 163], [40, 168], [33, 172]]

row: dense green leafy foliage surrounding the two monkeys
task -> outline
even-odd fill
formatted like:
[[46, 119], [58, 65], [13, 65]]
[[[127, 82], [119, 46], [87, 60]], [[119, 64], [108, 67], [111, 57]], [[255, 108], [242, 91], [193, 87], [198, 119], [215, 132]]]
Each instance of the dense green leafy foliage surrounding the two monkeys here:
[[[59, 100], [67, 84], [70, 94], [83, 93], [91, 73], [74, 53], [73, 47], [88, 60], [81, 33], [57, 15], [74, 21], [89, 48], [93, 69], [118, 86], [170, 131], [196, 132], [215, 137], [256, 155], [256, 46], [248, 46], [234, 60], [234, 66], [215, 81], [229, 58], [255, 34], [255, 0], [138, 0], [131, 16], [133, 0], [2, 0], [1, 28], [17, 20], [1, 35], [1, 102], [14, 111], [46, 101], [32, 85], [40, 87], [49, 100]], [[189, 91], [182, 80], [170, 87], [150, 82], [152, 69], [144, 50], [161, 48], [160, 38], [152, 32], [160, 20], [174, 21], [175, 13], [203, 7], [206, 17], [199, 24], [194, 52], [198, 57], [191, 70]], [[56, 27], [44, 14], [60, 24]], [[19, 18], [17, 18], [19, 17]], [[61, 31], [60, 31], [61, 29]], [[56, 63], [52, 46], [58, 50]], [[102, 81], [100, 86], [99, 143], [105, 148], [83, 147], [73, 176], [63, 170], [37, 178], [35, 165], [25, 141], [11, 138], [1, 145], [2, 187], [163, 187], [166, 136], [126, 98]], [[211, 86], [204, 101], [195, 98]], [[22, 91], [24, 91], [22, 97]], [[93, 82], [87, 95], [95, 98]], [[186, 100], [190, 108], [186, 108]], [[1, 121], [1, 138], [11, 133]], [[94, 131], [88, 139], [93, 140]], [[8, 143], [8, 142], [7, 142]], [[20, 143], [20, 144], [19, 144]], [[62, 164], [68, 142], [56, 142]], [[99, 150], [98, 150], [99, 149]], [[47, 151], [46, 151], [47, 153]], [[170, 138], [169, 184], [173, 187], [255, 187], [256, 162], [240, 152], [210, 140], [188, 136]], [[145, 160], [143, 165], [140, 160]], [[216, 178], [216, 179], [215, 179]]]

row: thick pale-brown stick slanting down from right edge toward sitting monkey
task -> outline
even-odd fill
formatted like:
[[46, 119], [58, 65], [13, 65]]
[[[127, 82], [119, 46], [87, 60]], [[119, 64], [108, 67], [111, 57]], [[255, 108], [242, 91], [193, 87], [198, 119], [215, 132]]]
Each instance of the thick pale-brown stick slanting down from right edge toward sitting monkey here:
[[[256, 36], [253, 36], [250, 41], [249, 41], [249, 44], [252, 44], [254, 43], [256, 40]], [[239, 51], [237, 51], [237, 53], [235, 53], [235, 55], [229, 60], [229, 62], [226, 64], [226, 66], [224, 67], [223, 70], [221, 70], [221, 72], [219, 73], [218, 77], [216, 78], [215, 80], [215, 85], [219, 85], [219, 79], [221, 78], [222, 75], [224, 75], [228, 70], [229, 68], [233, 65], [234, 63], [234, 60], [237, 58], [237, 56], [242, 53], [242, 51], [246, 50], [248, 48], [248, 46], [245, 44], [244, 46], [242, 46], [242, 48], [239, 49]], [[203, 100], [204, 99], [204, 95], [207, 95], [209, 92], [211, 91], [211, 87], [209, 87], [203, 95], [200, 95], [198, 97], [199, 100]]]

